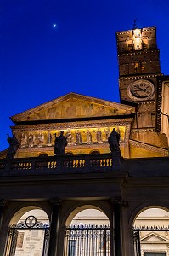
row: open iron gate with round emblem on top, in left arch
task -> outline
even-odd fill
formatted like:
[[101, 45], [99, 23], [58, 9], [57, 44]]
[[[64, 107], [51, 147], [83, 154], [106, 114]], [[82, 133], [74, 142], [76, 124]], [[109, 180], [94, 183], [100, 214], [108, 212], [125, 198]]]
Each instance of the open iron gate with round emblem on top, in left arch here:
[[34, 216], [29, 216], [25, 219], [25, 222], [18, 224], [12, 224], [8, 230], [8, 241], [6, 246], [5, 256], [14, 256], [17, 246], [17, 240], [20, 235], [20, 230], [43, 230], [43, 247], [42, 256], [48, 256], [48, 241], [49, 241], [49, 224], [44, 224], [37, 221]]

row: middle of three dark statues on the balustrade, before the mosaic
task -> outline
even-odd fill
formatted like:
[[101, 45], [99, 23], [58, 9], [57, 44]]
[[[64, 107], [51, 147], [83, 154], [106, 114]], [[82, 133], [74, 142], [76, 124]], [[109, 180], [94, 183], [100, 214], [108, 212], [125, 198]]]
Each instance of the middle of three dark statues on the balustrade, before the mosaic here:
[[54, 135], [54, 154], [64, 155], [65, 147], [67, 146], [67, 138], [64, 136], [64, 131], [60, 131], [60, 135], [58, 137], [56, 136], [56, 133], [54, 133]]

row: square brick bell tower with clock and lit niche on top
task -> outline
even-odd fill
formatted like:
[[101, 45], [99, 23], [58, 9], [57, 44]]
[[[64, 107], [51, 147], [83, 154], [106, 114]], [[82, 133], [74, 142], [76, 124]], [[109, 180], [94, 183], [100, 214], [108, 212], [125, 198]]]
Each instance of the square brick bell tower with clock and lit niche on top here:
[[157, 78], [162, 75], [156, 29], [133, 28], [117, 32], [116, 39], [121, 102], [137, 105], [137, 128], [155, 127]]

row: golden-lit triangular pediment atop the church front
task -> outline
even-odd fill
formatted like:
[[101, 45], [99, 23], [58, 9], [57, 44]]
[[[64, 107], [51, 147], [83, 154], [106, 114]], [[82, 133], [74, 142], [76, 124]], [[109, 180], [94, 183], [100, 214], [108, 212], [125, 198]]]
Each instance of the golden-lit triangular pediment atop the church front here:
[[109, 102], [90, 96], [69, 93], [44, 103], [36, 108], [11, 117], [14, 122], [46, 119], [75, 119], [98, 116], [127, 115], [135, 111], [134, 107]]

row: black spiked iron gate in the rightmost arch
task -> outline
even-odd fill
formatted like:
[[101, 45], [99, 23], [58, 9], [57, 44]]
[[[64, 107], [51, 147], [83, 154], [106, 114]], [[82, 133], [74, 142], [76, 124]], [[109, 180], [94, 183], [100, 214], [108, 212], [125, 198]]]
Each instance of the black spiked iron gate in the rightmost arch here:
[[133, 227], [133, 241], [134, 241], [134, 252], [135, 256], [141, 256], [141, 242], [140, 232], [141, 231], [169, 231], [169, 226], [141, 226]]

